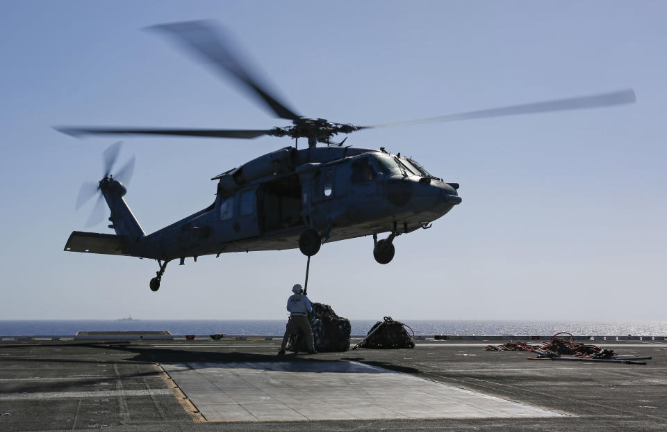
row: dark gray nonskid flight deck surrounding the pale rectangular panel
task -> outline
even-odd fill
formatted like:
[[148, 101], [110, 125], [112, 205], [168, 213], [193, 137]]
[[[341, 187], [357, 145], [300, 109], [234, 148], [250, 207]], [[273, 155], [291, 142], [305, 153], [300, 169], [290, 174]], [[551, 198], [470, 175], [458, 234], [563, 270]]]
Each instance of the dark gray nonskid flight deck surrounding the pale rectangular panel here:
[[[532, 354], [486, 351], [466, 341], [415, 341], [415, 349], [282, 357], [275, 355], [277, 346], [251, 341], [183, 340], [155, 346], [156, 342], [1, 343], [0, 431], [667, 430], [664, 342], [629, 342], [614, 348], [620, 354], [652, 356], [647, 365], [527, 361]], [[163, 368], [154, 366], [331, 361], [359, 362], [566, 415], [201, 422], [197, 408]], [[396, 393], [387, 393], [392, 395]]]

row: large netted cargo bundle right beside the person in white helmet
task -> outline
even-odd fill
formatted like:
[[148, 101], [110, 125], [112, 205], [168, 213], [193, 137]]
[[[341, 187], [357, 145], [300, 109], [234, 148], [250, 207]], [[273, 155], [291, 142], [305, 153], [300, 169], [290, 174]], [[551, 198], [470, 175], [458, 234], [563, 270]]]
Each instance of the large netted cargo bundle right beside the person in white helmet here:
[[[313, 328], [315, 350], [320, 353], [349, 350], [349, 334], [352, 326], [349, 319], [338, 317], [331, 306], [312, 303], [313, 310], [308, 313], [308, 321]], [[287, 346], [288, 351], [306, 351], [303, 335], [291, 335]]]

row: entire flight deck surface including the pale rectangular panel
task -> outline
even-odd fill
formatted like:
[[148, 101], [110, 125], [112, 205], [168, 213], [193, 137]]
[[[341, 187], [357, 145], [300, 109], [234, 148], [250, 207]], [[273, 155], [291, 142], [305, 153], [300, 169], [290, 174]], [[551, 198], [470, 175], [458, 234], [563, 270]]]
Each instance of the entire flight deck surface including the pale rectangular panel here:
[[279, 357], [261, 339], [3, 341], [0, 430], [667, 429], [667, 344], [608, 344], [648, 365], [484, 345]]

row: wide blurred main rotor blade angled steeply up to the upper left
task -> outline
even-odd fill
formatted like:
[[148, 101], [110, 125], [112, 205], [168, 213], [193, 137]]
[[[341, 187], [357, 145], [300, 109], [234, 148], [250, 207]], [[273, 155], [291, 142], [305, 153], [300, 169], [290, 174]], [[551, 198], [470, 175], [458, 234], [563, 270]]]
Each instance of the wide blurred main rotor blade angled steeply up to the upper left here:
[[260, 84], [258, 79], [252, 77], [248, 68], [240, 61], [239, 56], [234, 54], [231, 38], [227, 35], [220, 35], [216, 31], [216, 27], [218, 26], [212, 21], [189, 21], [160, 24], [150, 26], [147, 29], [163, 31], [171, 35], [191, 53], [199, 56], [216, 69], [236, 77], [249, 90], [259, 95], [278, 117], [298, 120], [299, 115], [272, 96], [265, 84]]

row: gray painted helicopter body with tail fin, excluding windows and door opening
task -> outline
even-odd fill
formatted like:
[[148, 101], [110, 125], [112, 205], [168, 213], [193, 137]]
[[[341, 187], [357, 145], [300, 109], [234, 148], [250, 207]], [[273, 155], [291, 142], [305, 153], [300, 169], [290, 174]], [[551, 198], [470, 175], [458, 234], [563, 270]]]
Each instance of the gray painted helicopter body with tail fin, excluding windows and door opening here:
[[[461, 202], [456, 190], [435, 177], [385, 175], [374, 155], [378, 150], [355, 147], [314, 147], [296, 150], [286, 147], [214, 177], [218, 180], [215, 202], [195, 214], [149, 235], [143, 235], [129, 207], [122, 199], [124, 187], [102, 189], [111, 209], [117, 236], [123, 239], [121, 253], [170, 260], [229, 252], [283, 250], [298, 247], [306, 228], [330, 230], [327, 241], [340, 241], [382, 232], [403, 234], [447, 214]], [[372, 163], [377, 177], [352, 182], [352, 161]], [[428, 179], [424, 182], [423, 179]], [[420, 182], [420, 180], [422, 182]], [[274, 183], [284, 181], [300, 188], [300, 219], [286, 227], [263, 229], [261, 220], [277, 209], [263, 208], [261, 195]], [[327, 195], [325, 186], [331, 188]], [[252, 197], [251, 207], [241, 214], [243, 197]], [[220, 205], [233, 200], [233, 217], [221, 220]], [[267, 200], [267, 198], [264, 198]], [[294, 202], [293, 198], [290, 198]], [[265, 227], [264, 227], [265, 228]], [[86, 233], [72, 233], [75, 241], [92, 240]], [[88, 248], [90, 253], [110, 253], [110, 248]], [[116, 241], [117, 244], [117, 241]], [[77, 249], [85, 246], [77, 244]], [[116, 246], [117, 248], [117, 246]], [[67, 250], [67, 246], [66, 246]]]

